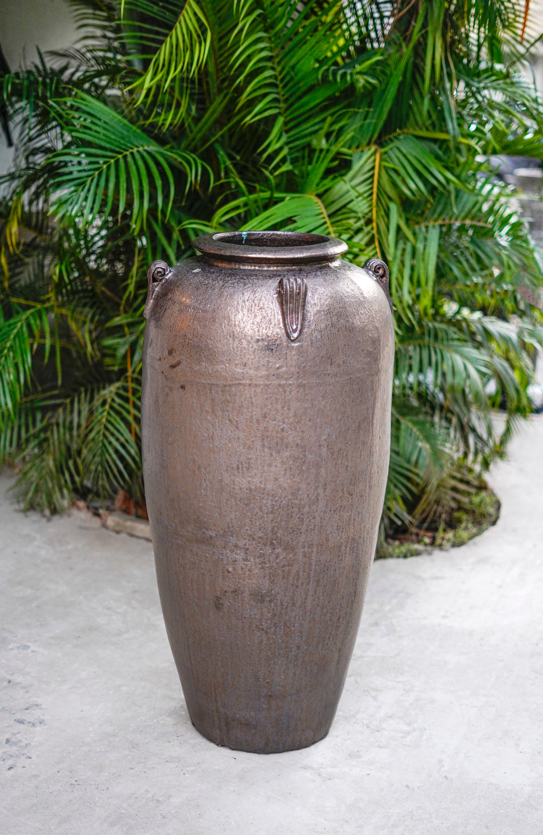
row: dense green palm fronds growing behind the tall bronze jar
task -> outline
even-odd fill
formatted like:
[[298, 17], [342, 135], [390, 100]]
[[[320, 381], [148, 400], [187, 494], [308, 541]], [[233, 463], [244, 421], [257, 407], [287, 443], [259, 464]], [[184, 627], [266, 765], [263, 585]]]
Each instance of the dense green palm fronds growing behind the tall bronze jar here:
[[[384, 530], [530, 411], [543, 283], [490, 154], [539, 157], [512, 0], [71, 0], [78, 48], [3, 78], [0, 458], [25, 507], [141, 498], [146, 269], [286, 229], [390, 266]], [[488, 383], [495, 381], [489, 395]], [[500, 443], [490, 407], [505, 403]]]

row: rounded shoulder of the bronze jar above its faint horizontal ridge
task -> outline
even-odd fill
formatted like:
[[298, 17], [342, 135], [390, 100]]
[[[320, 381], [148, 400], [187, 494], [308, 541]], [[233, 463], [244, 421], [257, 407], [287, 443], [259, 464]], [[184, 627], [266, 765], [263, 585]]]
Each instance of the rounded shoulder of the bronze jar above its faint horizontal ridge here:
[[385, 292], [344, 261], [293, 271], [188, 259], [158, 287], [145, 329], [144, 366], [184, 384], [367, 376], [393, 357]]

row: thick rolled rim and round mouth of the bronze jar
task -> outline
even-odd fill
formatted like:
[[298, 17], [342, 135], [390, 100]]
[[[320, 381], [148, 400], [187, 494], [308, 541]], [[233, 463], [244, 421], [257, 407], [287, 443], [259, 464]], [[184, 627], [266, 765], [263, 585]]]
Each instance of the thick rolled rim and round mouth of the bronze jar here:
[[309, 232], [215, 232], [193, 240], [194, 249], [214, 264], [284, 266], [334, 261], [349, 247], [343, 240]]

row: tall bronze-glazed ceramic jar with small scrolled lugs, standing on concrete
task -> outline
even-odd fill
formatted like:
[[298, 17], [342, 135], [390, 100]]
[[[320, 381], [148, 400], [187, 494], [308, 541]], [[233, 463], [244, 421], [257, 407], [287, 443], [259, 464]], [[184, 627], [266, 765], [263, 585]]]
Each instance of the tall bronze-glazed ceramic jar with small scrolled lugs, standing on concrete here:
[[394, 331], [382, 261], [220, 232], [149, 267], [143, 475], [194, 726], [289, 751], [329, 731], [375, 553]]

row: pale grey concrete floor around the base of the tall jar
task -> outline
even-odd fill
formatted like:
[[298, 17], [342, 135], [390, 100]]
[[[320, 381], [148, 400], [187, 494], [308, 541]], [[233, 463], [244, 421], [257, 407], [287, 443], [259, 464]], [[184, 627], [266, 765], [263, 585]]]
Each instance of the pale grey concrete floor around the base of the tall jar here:
[[191, 726], [150, 544], [2, 498], [2, 835], [541, 835], [542, 465], [543, 416], [495, 528], [375, 563], [328, 738], [268, 757]]

